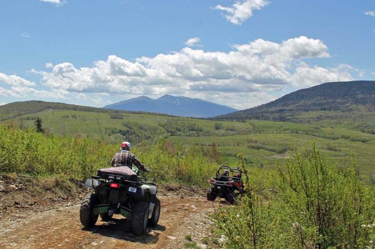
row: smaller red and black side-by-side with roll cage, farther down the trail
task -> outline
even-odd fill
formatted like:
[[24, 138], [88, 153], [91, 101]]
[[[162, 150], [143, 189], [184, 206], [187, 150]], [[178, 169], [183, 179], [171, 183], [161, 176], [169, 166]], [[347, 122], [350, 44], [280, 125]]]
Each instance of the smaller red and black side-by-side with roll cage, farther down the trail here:
[[216, 197], [225, 198], [230, 204], [234, 204], [238, 194], [245, 193], [242, 182], [241, 168], [230, 168], [222, 165], [216, 172], [216, 177], [209, 181], [211, 188], [207, 191], [207, 199], [214, 201]]

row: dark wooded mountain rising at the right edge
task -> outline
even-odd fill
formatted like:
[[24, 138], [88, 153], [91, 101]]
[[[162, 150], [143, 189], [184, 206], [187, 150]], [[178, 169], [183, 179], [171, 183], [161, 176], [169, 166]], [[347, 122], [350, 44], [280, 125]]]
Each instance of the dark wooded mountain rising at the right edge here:
[[375, 81], [347, 81], [301, 89], [270, 103], [215, 118], [304, 122], [353, 118], [374, 111]]

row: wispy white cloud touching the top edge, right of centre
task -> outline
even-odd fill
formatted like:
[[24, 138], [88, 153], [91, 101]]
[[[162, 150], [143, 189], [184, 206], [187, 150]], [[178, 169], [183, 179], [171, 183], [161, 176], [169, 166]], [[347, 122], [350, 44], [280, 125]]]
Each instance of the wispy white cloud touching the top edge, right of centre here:
[[252, 16], [254, 10], [260, 10], [268, 4], [268, 0], [238, 0], [231, 7], [216, 5], [215, 9], [226, 12], [224, 16], [231, 23], [241, 25]]

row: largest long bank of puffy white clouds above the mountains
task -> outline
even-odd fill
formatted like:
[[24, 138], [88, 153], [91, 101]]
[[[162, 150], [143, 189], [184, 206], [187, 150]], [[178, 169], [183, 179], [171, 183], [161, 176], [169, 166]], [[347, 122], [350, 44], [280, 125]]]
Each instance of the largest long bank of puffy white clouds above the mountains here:
[[103, 101], [100, 96], [109, 94], [174, 94], [199, 96], [222, 104], [228, 104], [224, 96], [233, 97], [233, 106], [247, 108], [274, 99], [268, 93], [286, 86], [307, 87], [353, 79], [351, 72], [355, 69], [348, 65], [310, 67], [303, 61], [329, 56], [328, 47], [321, 40], [301, 36], [280, 43], [257, 39], [234, 45], [228, 53], [186, 47], [155, 57], [139, 57], [135, 62], [111, 55], [92, 67], [76, 68], [63, 62], [50, 72], [31, 72], [41, 75], [45, 87], [62, 91], [61, 96], [68, 92], [81, 97], [80, 94], [92, 93], [98, 96], [98, 103]]

